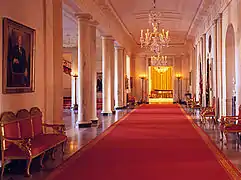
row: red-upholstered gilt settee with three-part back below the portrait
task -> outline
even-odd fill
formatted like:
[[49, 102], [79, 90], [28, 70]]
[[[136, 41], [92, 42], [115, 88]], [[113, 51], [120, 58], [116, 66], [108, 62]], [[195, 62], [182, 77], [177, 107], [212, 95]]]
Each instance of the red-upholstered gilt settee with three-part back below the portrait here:
[[[31, 176], [29, 169], [33, 158], [41, 156], [40, 165], [43, 167], [42, 161], [48, 150], [62, 144], [64, 151], [67, 140], [64, 125], [43, 124], [42, 112], [37, 107], [31, 108], [30, 112], [26, 109], [19, 110], [16, 115], [4, 112], [0, 124], [2, 176], [6, 160], [26, 159], [26, 176]], [[46, 133], [50, 128], [50, 133]]]

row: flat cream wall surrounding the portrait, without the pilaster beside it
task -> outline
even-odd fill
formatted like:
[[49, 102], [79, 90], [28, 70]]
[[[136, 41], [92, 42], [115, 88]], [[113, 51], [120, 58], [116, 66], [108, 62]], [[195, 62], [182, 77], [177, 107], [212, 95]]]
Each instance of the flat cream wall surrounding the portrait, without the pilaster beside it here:
[[[21, 7], [21, 8], [19, 8]], [[36, 13], [37, 12], [37, 13]], [[0, 78], [0, 112], [14, 111], [33, 106], [44, 109], [44, 24], [42, 0], [7, 0], [0, 6], [0, 74], [2, 75], [2, 18], [8, 17], [36, 30], [35, 54], [35, 92], [24, 94], [3, 94], [2, 78]]]

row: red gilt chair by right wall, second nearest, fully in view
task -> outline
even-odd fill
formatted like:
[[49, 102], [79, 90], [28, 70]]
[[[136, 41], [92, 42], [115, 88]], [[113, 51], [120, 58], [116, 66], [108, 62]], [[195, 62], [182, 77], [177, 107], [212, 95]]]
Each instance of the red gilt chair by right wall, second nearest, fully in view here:
[[211, 107], [205, 107], [201, 110], [200, 115], [201, 115], [201, 120], [202, 122], [206, 122], [207, 118], [211, 118], [214, 123], [216, 123], [216, 113], [215, 113], [215, 108], [216, 108], [216, 99], [213, 97], [212, 101], [212, 106]]

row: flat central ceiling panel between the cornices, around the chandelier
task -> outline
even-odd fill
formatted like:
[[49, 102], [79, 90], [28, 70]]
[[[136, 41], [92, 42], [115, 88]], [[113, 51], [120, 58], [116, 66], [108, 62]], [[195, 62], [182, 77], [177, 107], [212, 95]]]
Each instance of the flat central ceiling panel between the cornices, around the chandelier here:
[[[117, 16], [139, 43], [140, 30], [149, 28], [148, 12], [153, 0], [108, 0]], [[162, 13], [161, 28], [170, 31], [172, 44], [184, 43], [202, 0], [156, 0]]]

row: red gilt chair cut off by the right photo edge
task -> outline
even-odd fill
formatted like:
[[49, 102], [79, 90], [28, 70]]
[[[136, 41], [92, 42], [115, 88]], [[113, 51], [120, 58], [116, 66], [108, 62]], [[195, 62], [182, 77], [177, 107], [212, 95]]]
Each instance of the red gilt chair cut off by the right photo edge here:
[[241, 105], [239, 106], [238, 116], [222, 116], [221, 117], [221, 141], [223, 141], [223, 135], [226, 137], [228, 143], [228, 133], [241, 132]]

